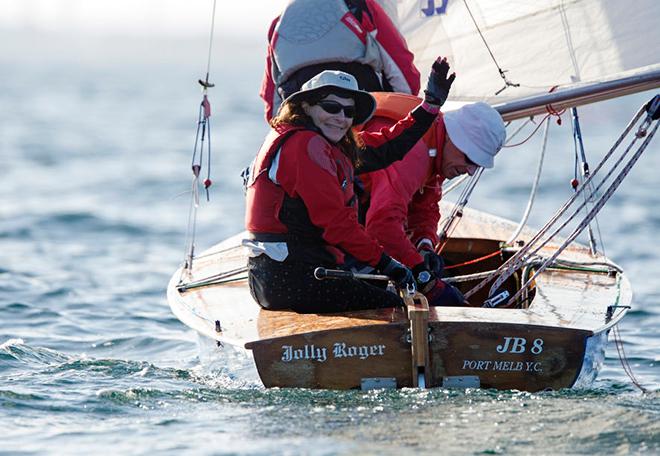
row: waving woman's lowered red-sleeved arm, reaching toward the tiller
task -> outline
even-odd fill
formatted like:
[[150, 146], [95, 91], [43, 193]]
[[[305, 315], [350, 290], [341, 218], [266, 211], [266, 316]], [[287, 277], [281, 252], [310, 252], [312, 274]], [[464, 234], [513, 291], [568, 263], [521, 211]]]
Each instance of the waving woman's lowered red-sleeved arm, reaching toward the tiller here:
[[381, 260], [382, 247], [357, 221], [357, 211], [346, 205], [341, 183], [350, 181], [350, 163], [344, 169], [331, 154], [330, 144], [317, 133], [293, 134], [282, 146], [277, 181], [291, 197], [303, 200], [311, 222], [322, 230], [329, 245], [339, 247], [372, 266]]

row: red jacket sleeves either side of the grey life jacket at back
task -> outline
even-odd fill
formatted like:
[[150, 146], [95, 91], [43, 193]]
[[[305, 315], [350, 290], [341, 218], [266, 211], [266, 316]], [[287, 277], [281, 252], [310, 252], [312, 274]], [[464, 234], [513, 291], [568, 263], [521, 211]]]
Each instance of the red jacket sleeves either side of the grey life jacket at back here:
[[[368, 14], [362, 14], [362, 20], [359, 21], [359, 24], [364, 31], [375, 35], [376, 42], [379, 45], [383, 74], [378, 75], [378, 77], [382, 76], [387, 81], [384, 86], [391, 87], [391, 90], [395, 92], [417, 95], [420, 89], [419, 71], [413, 63], [414, 55], [408, 50], [405, 39], [392, 23], [387, 13], [375, 0], [366, 0], [365, 4]], [[266, 121], [270, 121], [277, 113], [281, 102], [277, 93], [277, 87], [275, 87], [273, 75], [273, 49], [274, 43], [277, 40], [275, 28], [279, 20], [280, 17], [276, 17], [268, 30], [266, 68], [261, 83], [261, 90], [259, 91], [259, 95], [264, 100]], [[354, 17], [353, 20], [358, 22]], [[314, 63], [319, 64], [324, 62]], [[360, 79], [358, 78], [359, 81]]]

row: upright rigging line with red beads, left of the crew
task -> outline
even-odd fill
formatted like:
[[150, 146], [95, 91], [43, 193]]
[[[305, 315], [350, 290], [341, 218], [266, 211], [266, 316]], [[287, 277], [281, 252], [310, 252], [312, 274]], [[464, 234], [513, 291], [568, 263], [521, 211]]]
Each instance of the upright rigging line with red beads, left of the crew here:
[[[209, 75], [211, 72], [211, 55], [213, 50], [213, 32], [215, 30], [215, 10], [217, 0], [213, 0], [213, 12], [211, 14], [211, 31], [209, 33], [209, 50], [206, 61], [206, 77], [204, 80], [199, 79], [197, 82], [202, 86], [202, 102], [199, 105], [199, 112], [197, 117], [197, 131], [195, 133], [195, 144], [193, 147], [193, 154], [191, 160], [192, 189], [190, 208], [188, 210], [188, 228], [186, 230], [186, 257], [181, 271], [182, 277], [179, 279], [183, 281], [183, 272], [192, 271], [192, 263], [195, 257], [195, 234], [197, 228], [197, 209], [199, 208], [199, 180], [202, 167], [204, 165], [204, 151], [206, 151], [206, 178], [203, 181], [204, 190], [206, 191], [206, 200], [210, 200], [209, 187], [211, 181], [211, 103], [209, 102], [207, 92], [208, 89], [214, 87], [215, 84], [209, 82]], [[206, 144], [206, 147], [204, 147]]]

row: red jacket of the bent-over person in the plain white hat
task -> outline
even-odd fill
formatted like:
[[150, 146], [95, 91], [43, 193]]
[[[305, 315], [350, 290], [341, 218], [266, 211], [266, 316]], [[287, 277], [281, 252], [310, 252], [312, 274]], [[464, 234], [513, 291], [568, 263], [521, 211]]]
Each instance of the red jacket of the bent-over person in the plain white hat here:
[[[378, 116], [377, 111], [364, 129], [373, 131], [392, 122], [391, 118]], [[388, 255], [409, 267], [423, 261], [416, 248], [420, 240], [429, 239], [434, 245], [438, 242], [438, 203], [445, 179], [440, 171], [445, 138], [442, 117], [436, 120], [434, 133], [426, 141], [420, 140], [403, 160], [360, 176], [370, 201], [367, 232], [378, 239]], [[436, 157], [429, 155], [431, 141]]]

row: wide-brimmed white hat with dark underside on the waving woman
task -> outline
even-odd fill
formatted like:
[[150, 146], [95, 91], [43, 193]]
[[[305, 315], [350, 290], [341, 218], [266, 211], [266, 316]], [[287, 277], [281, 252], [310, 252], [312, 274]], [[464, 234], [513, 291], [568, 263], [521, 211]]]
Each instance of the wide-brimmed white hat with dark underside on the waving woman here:
[[337, 88], [339, 89], [339, 96], [345, 94], [347, 98], [353, 98], [355, 100], [355, 118], [353, 119], [353, 125], [365, 123], [371, 118], [376, 110], [376, 99], [369, 92], [365, 92], [358, 88], [357, 80], [353, 75], [335, 70], [325, 70], [320, 72], [312, 79], [305, 82], [299, 91], [289, 95], [282, 104], [296, 101], [301, 98], [304, 99], [306, 95], [326, 87]]

